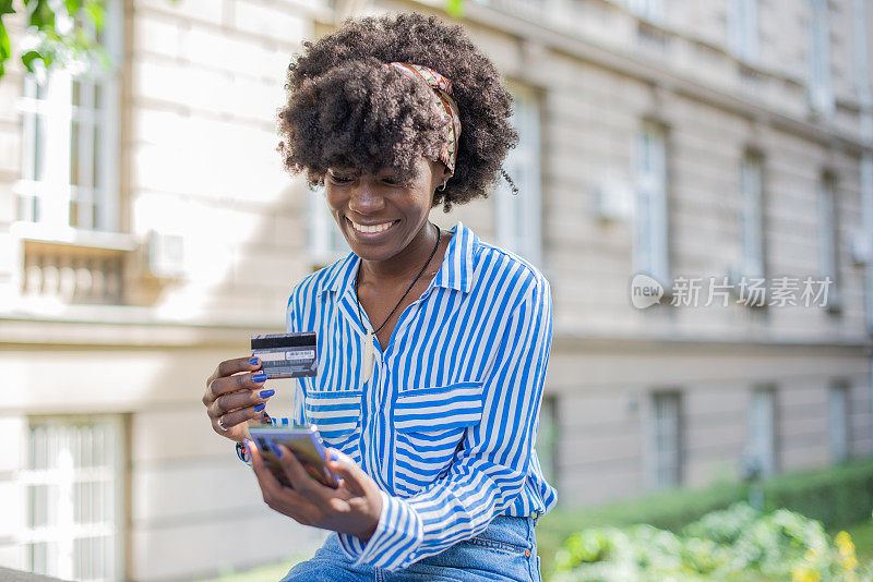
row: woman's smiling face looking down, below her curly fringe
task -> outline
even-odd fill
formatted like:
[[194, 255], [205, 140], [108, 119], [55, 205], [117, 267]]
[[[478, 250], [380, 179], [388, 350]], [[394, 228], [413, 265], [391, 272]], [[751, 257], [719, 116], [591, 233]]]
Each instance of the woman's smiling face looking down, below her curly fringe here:
[[423, 233], [433, 191], [447, 172], [445, 166], [420, 157], [417, 177], [409, 184], [394, 181], [394, 170], [363, 174], [348, 168], [330, 168], [324, 178], [327, 205], [356, 255], [367, 260], [396, 256]]

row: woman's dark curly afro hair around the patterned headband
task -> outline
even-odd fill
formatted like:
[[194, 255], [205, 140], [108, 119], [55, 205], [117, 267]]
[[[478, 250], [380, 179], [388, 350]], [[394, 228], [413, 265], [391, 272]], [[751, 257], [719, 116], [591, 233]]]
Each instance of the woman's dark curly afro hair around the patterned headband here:
[[435, 159], [446, 116], [433, 107], [429, 87], [384, 66], [393, 61], [429, 66], [453, 84], [461, 140], [454, 175], [433, 206], [447, 213], [487, 197], [498, 172], [506, 177], [501, 163], [518, 142], [512, 95], [459, 25], [416, 13], [348, 20], [303, 47], [288, 66], [278, 131], [286, 169], [306, 171], [310, 185], [323, 184], [330, 167], [368, 173], [391, 167], [408, 182], [420, 156]]

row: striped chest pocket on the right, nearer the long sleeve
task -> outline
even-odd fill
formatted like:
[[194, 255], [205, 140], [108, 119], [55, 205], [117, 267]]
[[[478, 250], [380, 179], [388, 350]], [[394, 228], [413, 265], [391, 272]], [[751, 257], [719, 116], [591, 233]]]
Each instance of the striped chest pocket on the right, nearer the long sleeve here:
[[411, 495], [435, 481], [481, 420], [481, 381], [402, 392], [394, 407], [396, 488]]

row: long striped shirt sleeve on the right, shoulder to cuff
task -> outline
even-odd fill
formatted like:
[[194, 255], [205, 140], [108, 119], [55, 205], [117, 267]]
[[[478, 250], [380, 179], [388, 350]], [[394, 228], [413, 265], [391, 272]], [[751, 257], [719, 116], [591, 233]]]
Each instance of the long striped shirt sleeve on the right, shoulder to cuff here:
[[551, 293], [536, 283], [499, 336], [482, 391], [482, 420], [467, 429], [449, 473], [406, 499], [382, 493], [375, 533], [339, 534], [356, 565], [406, 568], [481, 533], [524, 487], [551, 348]]

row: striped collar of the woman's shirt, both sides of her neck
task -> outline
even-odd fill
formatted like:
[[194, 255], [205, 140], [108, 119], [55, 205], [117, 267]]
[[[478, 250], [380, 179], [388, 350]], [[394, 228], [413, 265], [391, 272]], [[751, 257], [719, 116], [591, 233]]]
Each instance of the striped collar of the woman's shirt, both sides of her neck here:
[[[432, 284], [467, 293], [473, 289], [474, 252], [479, 238], [463, 222], [455, 225], [450, 232], [453, 234], [452, 240], [449, 241], [449, 247]], [[354, 286], [358, 263], [360, 257], [349, 253], [346, 258], [333, 266], [318, 293], [340, 291], [344, 287]]]

